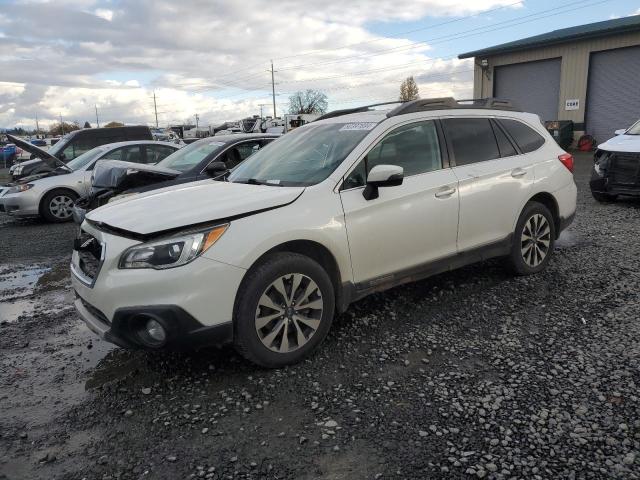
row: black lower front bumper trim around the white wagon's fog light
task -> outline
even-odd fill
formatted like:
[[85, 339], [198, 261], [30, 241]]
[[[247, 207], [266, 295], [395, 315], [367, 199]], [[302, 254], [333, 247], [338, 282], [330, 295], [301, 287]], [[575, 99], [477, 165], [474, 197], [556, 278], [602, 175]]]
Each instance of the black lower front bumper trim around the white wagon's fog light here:
[[[116, 310], [113, 321], [77, 296], [74, 305], [90, 330], [103, 340], [128, 349], [183, 350], [221, 346], [233, 341], [231, 321], [205, 326], [176, 305], [153, 305]], [[162, 325], [167, 339], [161, 344], [145, 341], [144, 325], [153, 319]]]

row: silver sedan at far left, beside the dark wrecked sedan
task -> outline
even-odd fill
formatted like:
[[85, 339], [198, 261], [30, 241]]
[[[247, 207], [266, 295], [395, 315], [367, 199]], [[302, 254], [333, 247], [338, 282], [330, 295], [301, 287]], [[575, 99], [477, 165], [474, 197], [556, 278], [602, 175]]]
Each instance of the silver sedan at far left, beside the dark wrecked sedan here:
[[153, 164], [179, 148], [175, 143], [151, 140], [111, 143], [89, 150], [65, 164], [34, 146], [30, 148], [31, 153], [49, 163], [54, 170], [0, 186], [0, 212], [14, 217], [41, 216], [49, 222], [66, 222], [71, 220], [74, 201], [89, 192], [96, 162], [122, 160]]

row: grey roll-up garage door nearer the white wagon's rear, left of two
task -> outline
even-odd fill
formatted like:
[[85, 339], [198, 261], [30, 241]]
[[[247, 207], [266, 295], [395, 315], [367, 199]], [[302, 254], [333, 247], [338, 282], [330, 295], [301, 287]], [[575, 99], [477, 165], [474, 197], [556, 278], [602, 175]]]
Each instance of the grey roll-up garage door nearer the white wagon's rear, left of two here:
[[554, 58], [496, 67], [494, 95], [511, 100], [520, 110], [537, 113], [542, 121], [557, 120], [560, 62], [561, 59]]

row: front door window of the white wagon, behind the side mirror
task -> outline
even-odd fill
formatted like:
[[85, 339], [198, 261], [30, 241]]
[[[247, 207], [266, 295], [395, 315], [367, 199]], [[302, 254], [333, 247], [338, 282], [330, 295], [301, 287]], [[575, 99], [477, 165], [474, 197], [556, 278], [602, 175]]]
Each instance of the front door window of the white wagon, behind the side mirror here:
[[364, 186], [367, 175], [376, 165], [398, 165], [405, 177], [441, 169], [435, 123], [429, 120], [403, 125], [385, 135], [347, 176], [342, 189]]

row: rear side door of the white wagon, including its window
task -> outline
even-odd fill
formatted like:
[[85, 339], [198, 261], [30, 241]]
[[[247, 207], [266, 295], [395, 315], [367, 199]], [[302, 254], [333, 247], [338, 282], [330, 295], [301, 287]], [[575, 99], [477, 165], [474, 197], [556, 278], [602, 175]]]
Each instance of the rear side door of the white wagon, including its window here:
[[510, 241], [533, 185], [532, 162], [490, 118], [445, 118], [442, 124], [459, 181], [458, 251]]

